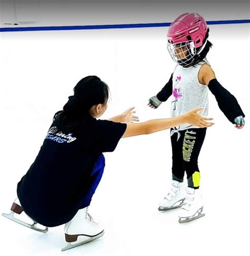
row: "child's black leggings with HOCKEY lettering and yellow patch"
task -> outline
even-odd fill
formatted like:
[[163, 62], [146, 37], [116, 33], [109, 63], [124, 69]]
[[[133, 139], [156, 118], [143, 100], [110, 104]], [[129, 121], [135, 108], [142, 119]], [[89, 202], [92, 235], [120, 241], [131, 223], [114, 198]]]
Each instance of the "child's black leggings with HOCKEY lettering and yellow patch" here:
[[188, 187], [191, 188], [199, 188], [200, 185], [198, 157], [205, 139], [206, 130], [206, 128], [191, 128], [179, 131], [180, 137], [178, 141], [177, 133], [171, 136], [172, 178], [182, 182], [186, 171]]

